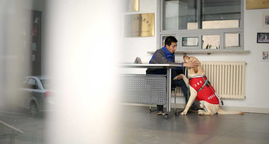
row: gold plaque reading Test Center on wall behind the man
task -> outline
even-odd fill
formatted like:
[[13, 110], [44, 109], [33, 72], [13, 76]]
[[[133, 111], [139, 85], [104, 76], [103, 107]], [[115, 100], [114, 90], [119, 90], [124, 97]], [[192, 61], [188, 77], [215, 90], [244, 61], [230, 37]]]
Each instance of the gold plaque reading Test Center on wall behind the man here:
[[154, 36], [154, 13], [125, 15], [124, 36]]

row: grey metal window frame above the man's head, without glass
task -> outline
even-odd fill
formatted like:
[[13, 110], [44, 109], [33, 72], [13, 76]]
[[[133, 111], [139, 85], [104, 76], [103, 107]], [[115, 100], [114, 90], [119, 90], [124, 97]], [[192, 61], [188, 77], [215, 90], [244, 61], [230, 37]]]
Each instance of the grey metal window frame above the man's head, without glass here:
[[[160, 49], [162, 45], [161, 38], [163, 35], [175, 35], [178, 40], [178, 49], [192, 50], [192, 51], [221, 51], [221, 50], [244, 50], [244, 0], [241, 0], [241, 27], [238, 28], [218, 28], [218, 29], [195, 29], [195, 30], [162, 30], [163, 29], [163, 0], [157, 1], [157, 49]], [[225, 48], [225, 33], [240, 33], [241, 34], [241, 47], [229, 47]], [[220, 48], [219, 49], [202, 49], [201, 38], [202, 35], [220, 35]], [[183, 48], [182, 47], [182, 36], [197, 36], [198, 46], [196, 48]]]

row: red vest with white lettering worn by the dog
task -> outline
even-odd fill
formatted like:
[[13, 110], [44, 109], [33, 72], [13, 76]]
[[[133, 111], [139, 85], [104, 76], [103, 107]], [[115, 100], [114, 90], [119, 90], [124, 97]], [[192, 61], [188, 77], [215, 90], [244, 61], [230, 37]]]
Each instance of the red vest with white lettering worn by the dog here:
[[[203, 77], [204, 77], [204, 80], [207, 80], [206, 76], [203, 76]], [[198, 91], [204, 85], [204, 80], [202, 77], [192, 78], [189, 80], [189, 85], [192, 88], [194, 88], [196, 91]], [[211, 84], [210, 84], [210, 87], [215, 92], [215, 89], [212, 87]], [[211, 104], [219, 104], [217, 96], [211, 90], [210, 87], [207, 87], [205, 85], [204, 88], [197, 93], [196, 100], [197, 101], [204, 100], [204, 101], [207, 101]]]

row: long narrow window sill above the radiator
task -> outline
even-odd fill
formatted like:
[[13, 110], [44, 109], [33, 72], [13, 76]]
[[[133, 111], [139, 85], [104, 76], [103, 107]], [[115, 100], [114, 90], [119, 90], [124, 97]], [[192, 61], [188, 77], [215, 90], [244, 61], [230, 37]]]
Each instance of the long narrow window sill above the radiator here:
[[[155, 51], [148, 51], [147, 53], [154, 53]], [[175, 53], [251, 53], [250, 50], [188, 50], [188, 51], [175, 51]]]

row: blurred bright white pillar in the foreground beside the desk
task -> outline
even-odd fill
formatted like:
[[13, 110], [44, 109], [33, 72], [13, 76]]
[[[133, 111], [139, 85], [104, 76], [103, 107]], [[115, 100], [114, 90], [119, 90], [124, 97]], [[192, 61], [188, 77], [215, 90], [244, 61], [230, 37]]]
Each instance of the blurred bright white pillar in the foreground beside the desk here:
[[118, 7], [111, 0], [46, 1], [45, 73], [59, 102], [48, 117], [49, 144], [117, 143]]

